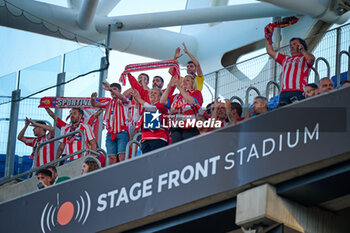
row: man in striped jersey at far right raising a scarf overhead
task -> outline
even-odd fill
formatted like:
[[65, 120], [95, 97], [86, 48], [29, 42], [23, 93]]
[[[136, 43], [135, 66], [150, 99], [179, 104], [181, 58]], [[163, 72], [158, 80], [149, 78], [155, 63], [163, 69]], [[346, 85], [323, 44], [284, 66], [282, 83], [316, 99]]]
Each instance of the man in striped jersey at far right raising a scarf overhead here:
[[285, 105], [305, 99], [304, 87], [308, 83], [310, 70], [315, 61], [314, 55], [307, 51], [306, 42], [301, 38], [292, 38], [289, 41], [291, 56], [276, 52], [268, 40], [265, 45], [270, 57], [283, 67], [279, 104]]

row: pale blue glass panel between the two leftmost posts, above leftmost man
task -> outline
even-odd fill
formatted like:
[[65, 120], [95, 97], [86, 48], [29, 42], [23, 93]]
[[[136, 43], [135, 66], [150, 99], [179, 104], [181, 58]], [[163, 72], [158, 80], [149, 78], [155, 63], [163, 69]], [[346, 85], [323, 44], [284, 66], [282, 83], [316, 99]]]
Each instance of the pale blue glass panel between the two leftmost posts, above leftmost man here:
[[[56, 85], [57, 74], [61, 70], [61, 56], [21, 70], [19, 88], [21, 96], [28, 96], [37, 91]], [[55, 96], [56, 88], [35, 95], [35, 97]]]

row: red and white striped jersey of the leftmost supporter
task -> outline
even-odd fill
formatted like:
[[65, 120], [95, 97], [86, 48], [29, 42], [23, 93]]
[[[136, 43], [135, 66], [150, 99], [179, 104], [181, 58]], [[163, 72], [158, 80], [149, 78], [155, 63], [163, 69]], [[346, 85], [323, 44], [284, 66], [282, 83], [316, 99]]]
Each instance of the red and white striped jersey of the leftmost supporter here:
[[[31, 154], [31, 158], [34, 159], [34, 151], [35, 149], [43, 142], [46, 142], [50, 139], [54, 138], [54, 135], [51, 133], [47, 133], [44, 137], [25, 137], [25, 144], [27, 146], [33, 147], [33, 153]], [[42, 166], [46, 163], [49, 163], [55, 159], [55, 143], [51, 142], [41, 147], [38, 151], [38, 159], [36, 166]], [[33, 161], [34, 163], [34, 161]]]

